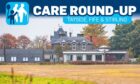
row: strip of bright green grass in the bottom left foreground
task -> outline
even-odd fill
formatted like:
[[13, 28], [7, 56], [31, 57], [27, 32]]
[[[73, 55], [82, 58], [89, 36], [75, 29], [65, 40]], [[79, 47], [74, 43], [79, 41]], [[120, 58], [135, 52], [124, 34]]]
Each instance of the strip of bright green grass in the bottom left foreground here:
[[[14, 76], [15, 84], [95, 84], [80, 80], [70, 80], [64, 78], [46, 78], [46, 77], [32, 77], [29, 76]], [[32, 80], [32, 81], [30, 81]], [[12, 84], [12, 77], [7, 73], [0, 73], [0, 84]]]

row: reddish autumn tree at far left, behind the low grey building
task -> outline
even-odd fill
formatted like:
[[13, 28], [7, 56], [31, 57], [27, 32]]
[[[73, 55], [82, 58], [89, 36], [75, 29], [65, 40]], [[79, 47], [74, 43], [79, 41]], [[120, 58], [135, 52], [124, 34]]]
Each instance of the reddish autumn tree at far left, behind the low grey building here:
[[16, 48], [17, 46], [16, 37], [8, 33], [1, 36], [1, 43], [5, 48]]

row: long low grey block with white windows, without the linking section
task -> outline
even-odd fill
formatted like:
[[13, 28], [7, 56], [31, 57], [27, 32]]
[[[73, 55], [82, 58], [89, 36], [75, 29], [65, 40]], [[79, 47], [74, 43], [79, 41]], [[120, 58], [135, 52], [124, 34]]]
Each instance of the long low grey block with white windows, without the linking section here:
[[43, 60], [41, 49], [6, 49], [5, 51], [0, 49], [1, 62], [40, 62]]

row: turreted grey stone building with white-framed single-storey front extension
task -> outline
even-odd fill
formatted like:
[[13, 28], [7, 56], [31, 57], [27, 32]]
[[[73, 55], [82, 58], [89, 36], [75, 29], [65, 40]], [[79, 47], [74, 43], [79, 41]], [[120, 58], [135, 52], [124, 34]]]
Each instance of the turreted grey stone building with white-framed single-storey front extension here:
[[[92, 61], [92, 62], [109, 62], [109, 61], [128, 61], [127, 51], [111, 50], [107, 46], [94, 48], [94, 44], [87, 40], [83, 34], [72, 36], [60, 27], [51, 36], [51, 44], [53, 48], [60, 45], [63, 49], [63, 61]], [[65, 46], [69, 47], [65, 49]]]

